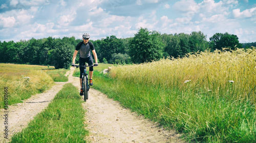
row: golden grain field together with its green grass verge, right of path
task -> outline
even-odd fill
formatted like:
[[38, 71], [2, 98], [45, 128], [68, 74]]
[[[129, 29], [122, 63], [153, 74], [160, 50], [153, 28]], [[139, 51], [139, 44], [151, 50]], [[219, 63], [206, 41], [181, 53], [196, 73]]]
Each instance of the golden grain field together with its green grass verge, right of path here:
[[255, 73], [255, 48], [205, 51], [96, 72], [93, 88], [187, 141], [254, 142]]

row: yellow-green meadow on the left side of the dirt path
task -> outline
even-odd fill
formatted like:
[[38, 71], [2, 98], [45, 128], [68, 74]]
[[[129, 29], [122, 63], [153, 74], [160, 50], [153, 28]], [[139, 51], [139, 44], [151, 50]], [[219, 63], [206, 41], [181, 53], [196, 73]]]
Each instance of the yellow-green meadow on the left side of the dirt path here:
[[[0, 64], [0, 86], [8, 87], [8, 105], [23, 102], [36, 93], [51, 88], [54, 81], [68, 81], [68, 70], [52, 66]], [[4, 107], [4, 96], [0, 108]]]

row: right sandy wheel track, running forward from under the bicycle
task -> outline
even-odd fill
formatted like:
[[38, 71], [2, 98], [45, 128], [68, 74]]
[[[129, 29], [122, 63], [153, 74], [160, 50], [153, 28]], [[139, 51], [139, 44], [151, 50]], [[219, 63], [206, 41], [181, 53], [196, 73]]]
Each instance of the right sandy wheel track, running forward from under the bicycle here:
[[90, 89], [84, 107], [91, 142], [184, 142], [175, 131], [138, 117], [99, 91]]

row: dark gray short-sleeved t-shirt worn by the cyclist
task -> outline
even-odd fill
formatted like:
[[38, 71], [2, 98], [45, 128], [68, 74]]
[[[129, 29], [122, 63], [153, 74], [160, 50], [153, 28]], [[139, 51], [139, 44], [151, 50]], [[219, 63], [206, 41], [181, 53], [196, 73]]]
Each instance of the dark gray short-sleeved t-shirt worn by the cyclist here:
[[91, 50], [94, 50], [92, 42], [84, 44], [83, 41], [76, 45], [76, 50], [80, 50], [80, 58], [88, 58], [91, 55]]

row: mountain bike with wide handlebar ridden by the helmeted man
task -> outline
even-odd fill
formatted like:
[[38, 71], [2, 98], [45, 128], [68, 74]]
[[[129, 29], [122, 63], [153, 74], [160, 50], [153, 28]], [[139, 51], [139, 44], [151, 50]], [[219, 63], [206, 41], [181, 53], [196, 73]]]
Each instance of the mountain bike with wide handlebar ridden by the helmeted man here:
[[88, 74], [87, 74], [87, 67], [94, 67], [93, 65], [85, 65], [85, 66], [82, 66], [82, 65], [75, 65], [76, 68], [78, 67], [82, 67], [84, 70], [83, 70], [83, 73], [82, 73], [82, 94], [83, 94], [83, 99], [84, 101], [86, 101], [88, 99], [88, 96], [89, 96], [89, 89], [90, 89], [90, 84], [88, 82]]

